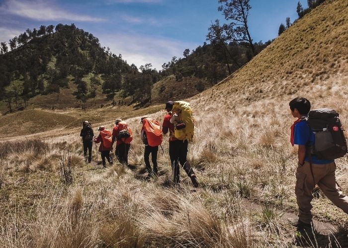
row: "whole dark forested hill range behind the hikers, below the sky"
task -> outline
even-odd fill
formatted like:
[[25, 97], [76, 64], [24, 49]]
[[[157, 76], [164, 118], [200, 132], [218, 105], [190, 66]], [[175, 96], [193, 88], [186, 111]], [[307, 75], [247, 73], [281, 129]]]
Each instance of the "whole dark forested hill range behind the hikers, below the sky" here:
[[[193, 96], [252, 58], [245, 44], [214, 40], [215, 31], [210, 32], [210, 44], [186, 49], [183, 58], [173, 57], [158, 72], [150, 63], [139, 71], [74, 24], [27, 29], [10, 39], [8, 47], [1, 42], [3, 109], [22, 109], [29, 100], [39, 107], [85, 108], [111, 102], [147, 106]], [[261, 51], [269, 43], [255, 43], [255, 47]]]

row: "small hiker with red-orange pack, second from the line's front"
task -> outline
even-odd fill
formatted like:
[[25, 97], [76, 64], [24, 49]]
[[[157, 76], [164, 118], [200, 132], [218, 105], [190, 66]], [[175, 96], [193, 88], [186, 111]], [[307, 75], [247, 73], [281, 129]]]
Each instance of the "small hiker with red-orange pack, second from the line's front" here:
[[109, 162], [109, 165], [112, 165], [112, 158], [110, 157], [110, 151], [112, 151], [112, 143], [111, 143], [111, 132], [105, 129], [104, 126], [98, 127], [99, 135], [98, 137], [94, 137], [93, 141], [99, 145], [99, 152], [101, 153], [101, 161], [103, 164], [103, 168], [106, 168], [106, 161]]

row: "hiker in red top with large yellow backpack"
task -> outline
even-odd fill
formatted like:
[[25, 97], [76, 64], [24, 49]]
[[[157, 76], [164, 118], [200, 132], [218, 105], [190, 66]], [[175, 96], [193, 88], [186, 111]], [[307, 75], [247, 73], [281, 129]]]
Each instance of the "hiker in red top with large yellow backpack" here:
[[189, 162], [187, 161], [188, 140], [192, 140], [194, 133], [194, 119], [189, 103], [184, 101], [166, 103], [168, 114], [164, 117], [162, 131], [169, 131], [169, 156], [171, 159], [174, 184], [178, 184], [179, 163], [191, 179], [194, 187], [198, 187], [198, 181]]

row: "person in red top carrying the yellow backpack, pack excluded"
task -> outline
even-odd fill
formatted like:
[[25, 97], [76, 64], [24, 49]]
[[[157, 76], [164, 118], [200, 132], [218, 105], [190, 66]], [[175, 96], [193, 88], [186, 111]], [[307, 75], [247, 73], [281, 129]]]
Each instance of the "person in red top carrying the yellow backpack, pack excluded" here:
[[[166, 103], [165, 110], [167, 110], [168, 114], [164, 117], [162, 131], [164, 134], [169, 131], [169, 157], [171, 159], [171, 165], [173, 169], [174, 184], [178, 184], [180, 181], [180, 163], [187, 176], [191, 179], [193, 186], [198, 187], [196, 175], [194, 174], [190, 164], [187, 161], [188, 140], [185, 137], [183, 137], [182, 139], [175, 138], [174, 135], [174, 122], [171, 122], [173, 106], [174, 103], [172, 101]], [[173, 117], [176, 116], [175, 114], [173, 115]]]

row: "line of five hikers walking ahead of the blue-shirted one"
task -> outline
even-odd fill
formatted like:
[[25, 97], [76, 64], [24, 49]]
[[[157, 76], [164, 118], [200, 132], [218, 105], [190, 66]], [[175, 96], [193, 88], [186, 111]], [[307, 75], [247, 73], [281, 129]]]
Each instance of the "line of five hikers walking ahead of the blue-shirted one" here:
[[[180, 181], [180, 164], [190, 178], [192, 185], [198, 187], [199, 184], [196, 175], [187, 161], [188, 141], [192, 140], [194, 133], [194, 119], [191, 106], [184, 101], [169, 101], [166, 103], [165, 110], [168, 113], [164, 117], [162, 129], [161, 124], [156, 119], [145, 116], [142, 117], [140, 121], [142, 124], [140, 132], [141, 140], [145, 145], [144, 162], [149, 177], [158, 177], [157, 154], [159, 146], [161, 146], [163, 141], [163, 134], [169, 132], [169, 156], [174, 184], [177, 185]], [[99, 134], [95, 137], [91, 124], [88, 123], [88, 121], [83, 123], [80, 136], [83, 140], [84, 156], [87, 163], [91, 162], [92, 141], [94, 141], [95, 144], [100, 143], [99, 152], [101, 154], [103, 168], [106, 167], [106, 160], [109, 165], [112, 165], [113, 162], [110, 151], [113, 150], [113, 144], [116, 141], [115, 156], [120, 164], [128, 165], [128, 152], [131, 147], [131, 141], [133, 140], [132, 130], [127, 123], [121, 119], [117, 119], [114, 124], [115, 126], [112, 129], [112, 133], [105, 129], [104, 126], [99, 126], [97, 129]], [[153, 168], [151, 168], [150, 165], [150, 155]]]

